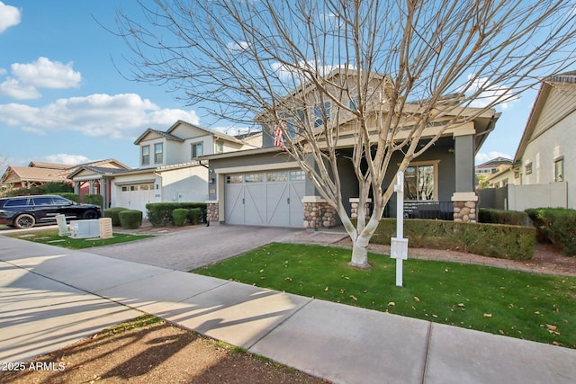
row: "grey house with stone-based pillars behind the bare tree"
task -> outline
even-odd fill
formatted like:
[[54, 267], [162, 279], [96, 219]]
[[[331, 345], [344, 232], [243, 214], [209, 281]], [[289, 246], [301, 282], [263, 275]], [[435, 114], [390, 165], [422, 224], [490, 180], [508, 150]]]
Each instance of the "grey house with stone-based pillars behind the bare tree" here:
[[[383, 92], [374, 92], [378, 99], [371, 102], [382, 106], [383, 113], [386, 113], [382, 102]], [[299, 95], [287, 97], [294, 96]], [[455, 100], [448, 97], [446, 103], [454, 103]], [[329, 111], [329, 105], [323, 107]], [[417, 109], [415, 105], [409, 107]], [[479, 112], [473, 108], [461, 111], [464, 116]], [[475, 221], [477, 196], [474, 192], [474, 156], [494, 129], [499, 117], [500, 113], [490, 110], [460, 126], [447, 129], [435, 146], [410, 165], [405, 172], [406, 207], [410, 209], [410, 215], [423, 217], [424, 211], [432, 211], [441, 219]], [[311, 119], [314, 117], [311, 116]], [[356, 121], [340, 121], [344, 121], [340, 125], [341, 131], [348, 129], [352, 132], [350, 127]], [[431, 126], [423, 138], [431, 138], [436, 132], [437, 129]], [[357, 210], [358, 196], [356, 174], [352, 162], [348, 160], [352, 157], [354, 141], [352, 133], [338, 139], [338, 143], [342, 144], [338, 164], [343, 179], [342, 195], [351, 216]], [[293, 228], [337, 225], [338, 218], [334, 210], [323, 201], [298, 163], [279, 147], [275, 147], [274, 138], [270, 135], [265, 133], [263, 142], [262, 148], [202, 157], [209, 160], [211, 177], [216, 181], [215, 185], [211, 184], [210, 200], [207, 201], [209, 220]], [[399, 163], [399, 157], [392, 159], [384, 184], [393, 181], [397, 171], [394, 165]], [[395, 196], [392, 196], [392, 204], [395, 204], [394, 201]], [[461, 210], [464, 205], [465, 209]], [[392, 216], [394, 212], [391, 210]]]

